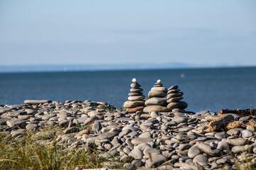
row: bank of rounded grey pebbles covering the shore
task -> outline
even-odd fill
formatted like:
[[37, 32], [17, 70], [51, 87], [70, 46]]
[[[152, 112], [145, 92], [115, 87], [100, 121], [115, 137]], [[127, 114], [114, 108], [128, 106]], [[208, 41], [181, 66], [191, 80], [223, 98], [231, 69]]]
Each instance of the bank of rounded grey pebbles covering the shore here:
[[[220, 114], [201, 111], [128, 113], [92, 101], [25, 101], [0, 105], [0, 132], [21, 140], [35, 131], [38, 144], [63, 149], [94, 148], [123, 169], [246, 169], [255, 167], [255, 116], [228, 113], [243, 126], [212, 132]], [[60, 128], [60, 131], [43, 128]], [[75, 169], [80, 169], [76, 167]]]

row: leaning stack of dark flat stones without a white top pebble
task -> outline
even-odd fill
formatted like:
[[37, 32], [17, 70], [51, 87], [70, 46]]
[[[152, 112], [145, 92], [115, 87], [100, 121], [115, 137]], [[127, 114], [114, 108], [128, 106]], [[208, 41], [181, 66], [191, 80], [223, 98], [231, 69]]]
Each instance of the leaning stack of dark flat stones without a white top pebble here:
[[183, 109], [188, 107], [188, 104], [185, 101], [181, 101], [183, 99], [183, 92], [181, 92], [178, 89], [177, 85], [171, 86], [168, 89], [167, 92], [167, 108], [169, 109], [169, 111], [173, 111], [173, 112], [182, 112]]

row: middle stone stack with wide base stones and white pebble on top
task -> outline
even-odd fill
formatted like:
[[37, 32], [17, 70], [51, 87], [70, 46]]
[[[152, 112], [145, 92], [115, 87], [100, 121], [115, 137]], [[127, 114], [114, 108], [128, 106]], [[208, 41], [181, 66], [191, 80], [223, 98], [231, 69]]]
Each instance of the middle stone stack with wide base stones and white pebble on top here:
[[166, 107], [166, 96], [167, 89], [161, 84], [161, 80], [158, 80], [154, 87], [149, 91], [149, 100], [146, 101], [146, 107], [144, 112], [167, 112], [169, 109]]

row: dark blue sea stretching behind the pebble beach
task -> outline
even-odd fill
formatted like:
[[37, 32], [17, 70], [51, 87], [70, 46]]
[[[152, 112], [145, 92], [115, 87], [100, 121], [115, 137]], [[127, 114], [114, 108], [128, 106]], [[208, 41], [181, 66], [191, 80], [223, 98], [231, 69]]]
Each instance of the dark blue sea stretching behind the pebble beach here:
[[[181, 74], [184, 77], [181, 77]], [[256, 67], [221, 69], [159, 69], [98, 72], [42, 72], [0, 74], [0, 103], [26, 99], [103, 101], [121, 107], [132, 78], [147, 96], [157, 79], [177, 84], [187, 111], [256, 108]]]

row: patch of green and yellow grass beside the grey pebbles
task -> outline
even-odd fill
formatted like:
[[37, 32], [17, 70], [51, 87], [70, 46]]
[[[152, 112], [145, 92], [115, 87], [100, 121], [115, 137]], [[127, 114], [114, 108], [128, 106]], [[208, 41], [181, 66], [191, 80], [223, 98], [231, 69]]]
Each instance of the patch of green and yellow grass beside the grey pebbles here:
[[[27, 132], [21, 138], [6, 137], [0, 132], [0, 169], [82, 169], [101, 168], [106, 162], [95, 150], [87, 152], [86, 147], [67, 149], [56, 145], [55, 138], [50, 144], [41, 145], [34, 139], [36, 132]], [[42, 139], [43, 140], [43, 139]], [[122, 168], [112, 165], [112, 168]]]

